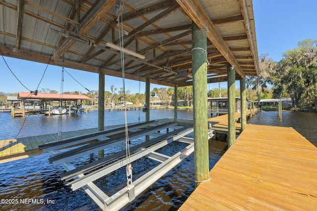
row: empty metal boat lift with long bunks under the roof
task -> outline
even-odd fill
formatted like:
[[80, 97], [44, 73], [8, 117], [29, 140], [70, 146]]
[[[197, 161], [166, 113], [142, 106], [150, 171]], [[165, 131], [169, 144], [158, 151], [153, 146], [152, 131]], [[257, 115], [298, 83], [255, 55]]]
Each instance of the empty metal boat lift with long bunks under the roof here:
[[[173, 130], [169, 130], [166, 134], [158, 132], [159, 130], [167, 128]], [[135, 181], [132, 181], [132, 178], [129, 181], [127, 176], [127, 186], [112, 196], [107, 196], [93, 181], [127, 166], [127, 159], [125, 158], [125, 137], [122, 135], [122, 129], [123, 127], [117, 127], [94, 134], [68, 138], [59, 142], [42, 145], [40, 148], [43, 149], [43, 151], [50, 152], [50, 163], [53, 163], [53, 165], [61, 165], [66, 170], [66, 172], [61, 174], [61, 179], [64, 180], [66, 185], [70, 186], [73, 191], [82, 188], [104, 211], [119, 210], [129, 202], [132, 202], [137, 195], [145, 191], [161, 176], [174, 168], [194, 151], [194, 139], [184, 137], [193, 132], [192, 121], [183, 120], [182, 122], [173, 123], [171, 119], [163, 119], [128, 126], [130, 140], [146, 135], [155, 136], [155, 138], [149, 141], [130, 147], [130, 162], [146, 157], [158, 161], [160, 164]], [[110, 135], [110, 138], [106, 137]], [[209, 137], [211, 136], [212, 131], [210, 129]], [[65, 152], [57, 151], [61, 148], [87, 143], [96, 139], [96, 137], [99, 140], [98, 142], [86, 144]], [[156, 152], [156, 150], [172, 142], [184, 142], [188, 145], [173, 156]], [[70, 163], [72, 160], [112, 146], [118, 146], [123, 148], [123, 150], [77, 168]], [[127, 168], [127, 175], [130, 174], [131, 168]]]

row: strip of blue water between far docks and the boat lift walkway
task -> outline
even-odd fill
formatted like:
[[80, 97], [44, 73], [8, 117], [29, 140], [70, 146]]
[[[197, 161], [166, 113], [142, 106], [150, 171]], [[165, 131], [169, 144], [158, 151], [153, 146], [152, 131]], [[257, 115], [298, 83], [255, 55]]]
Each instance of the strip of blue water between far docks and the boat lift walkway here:
[[[127, 111], [128, 123], [145, 121], [145, 113], [142, 111]], [[150, 120], [174, 117], [174, 110], [151, 110]], [[193, 119], [192, 110], [179, 110], [179, 119]], [[105, 112], [105, 126], [124, 124], [124, 112]], [[27, 137], [58, 133], [58, 131], [72, 131], [98, 127], [98, 112], [71, 113], [67, 115], [53, 116], [26, 116], [25, 118], [13, 118], [10, 113], [0, 113], [0, 140], [17, 137]], [[20, 131], [21, 130], [21, 131]], [[20, 133], [19, 133], [20, 131]]]

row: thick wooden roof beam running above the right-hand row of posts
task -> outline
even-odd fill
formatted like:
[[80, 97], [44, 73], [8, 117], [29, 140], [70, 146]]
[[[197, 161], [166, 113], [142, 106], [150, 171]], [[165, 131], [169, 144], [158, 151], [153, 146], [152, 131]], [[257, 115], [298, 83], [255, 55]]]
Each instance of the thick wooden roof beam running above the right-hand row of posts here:
[[235, 71], [243, 78], [246, 78], [245, 73], [241, 69], [234, 55], [230, 51], [228, 45], [222, 39], [210, 18], [206, 14], [204, 8], [197, 0], [176, 0], [186, 14], [196, 23], [200, 28], [207, 30], [207, 37], [213, 45], [220, 51], [226, 60], [235, 66]]

